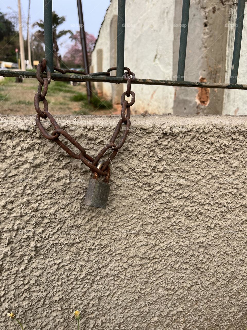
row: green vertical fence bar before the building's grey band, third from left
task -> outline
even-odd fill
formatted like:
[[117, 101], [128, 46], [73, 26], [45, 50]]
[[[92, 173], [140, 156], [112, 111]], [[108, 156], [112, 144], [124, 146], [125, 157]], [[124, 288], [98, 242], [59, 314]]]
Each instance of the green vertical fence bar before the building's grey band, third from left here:
[[189, 25], [190, 0], [183, 0], [180, 45], [178, 55], [178, 81], [184, 81], [184, 68], [187, 47], [188, 25]]

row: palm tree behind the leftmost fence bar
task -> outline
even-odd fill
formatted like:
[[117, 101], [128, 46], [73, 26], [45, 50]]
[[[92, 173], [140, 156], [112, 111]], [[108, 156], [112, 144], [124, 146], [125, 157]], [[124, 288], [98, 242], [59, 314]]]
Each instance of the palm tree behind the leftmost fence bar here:
[[[59, 38], [65, 36], [66, 34], [72, 35], [72, 31], [70, 30], [62, 30], [60, 32], [57, 32], [57, 28], [59, 25], [63, 24], [65, 22], [65, 17], [61, 16], [59, 17], [55, 12], [52, 12], [52, 34], [53, 34], [53, 54], [54, 54], [54, 63], [56, 63], [56, 66], [60, 68], [60, 61], [61, 61], [61, 55], [58, 55], [58, 44], [57, 41]], [[33, 26], [39, 26], [40, 30], [35, 32], [35, 35], [37, 38], [41, 40], [41, 42], [44, 43], [44, 21], [39, 20], [38, 22], [34, 23]]]

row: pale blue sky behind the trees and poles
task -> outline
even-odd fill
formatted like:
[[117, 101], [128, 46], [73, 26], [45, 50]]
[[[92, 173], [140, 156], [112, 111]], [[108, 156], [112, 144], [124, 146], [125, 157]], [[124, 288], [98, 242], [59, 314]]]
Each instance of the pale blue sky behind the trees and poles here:
[[[29, 0], [21, 0], [21, 14], [23, 24], [27, 22], [28, 3]], [[39, 19], [44, 19], [43, 3], [43, 0], [31, 0], [30, 24], [33, 24]], [[96, 38], [109, 4], [110, 0], [82, 0], [85, 31], [93, 34]], [[61, 27], [58, 29], [58, 32], [60, 30], [71, 30], [73, 32], [79, 30], [76, 0], [53, 0], [52, 8], [59, 16], [66, 17], [65, 23], [61, 25]], [[13, 13], [13, 11], [17, 12], [18, 1], [0, 0], [0, 11], [4, 14], [10, 14]], [[32, 30], [32, 32], [34, 31], [35, 29]], [[26, 28], [23, 28], [24, 37], [26, 37], [26, 34]], [[66, 53], [69, 43], [71, 43], [69, 40], [69, 35], [60, 39], [59, 49], [62, 56]]]

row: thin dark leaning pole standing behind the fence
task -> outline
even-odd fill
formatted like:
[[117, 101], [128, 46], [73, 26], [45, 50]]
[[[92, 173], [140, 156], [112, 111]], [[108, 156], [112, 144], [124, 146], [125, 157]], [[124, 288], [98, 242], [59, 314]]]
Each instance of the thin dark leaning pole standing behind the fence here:
[[[86, 43], [86, 33], [84, 29], [84, 20], [83, 20], [83, 12], [82, 12], [82, 0], [77, 0], [77, 9], [78, 9], [78, 16], [79, 16], [79, 25], [80, 25], [80, 34], [81, 34], [81, 46], [82, 46], [82, 53], [83, 53], [83, 62], [84, 62], [84, 71], [86, 74], [89, 74], [89, 67], [88, 67], [88, 53], [87, 53], [87, 43]], [[88, 95], [88, 104], [91, 103], [91, 83], [86, 82], [87, 86], [87, 95]]]

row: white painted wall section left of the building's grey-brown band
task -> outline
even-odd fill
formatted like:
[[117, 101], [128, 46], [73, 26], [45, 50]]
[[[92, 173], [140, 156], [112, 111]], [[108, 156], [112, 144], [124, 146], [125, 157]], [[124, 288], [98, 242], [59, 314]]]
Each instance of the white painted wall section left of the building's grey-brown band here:
[[[117, 0], [112, 0], [101, 26], [92, 66], [97, 71], [97, 49], [103, 49], [103, 70], [110, 67], [110, 23], [117, 15]], [[138, 78], [167, 79], [173, 76], [173, 20], [175, 1], [127, 0], [125, 17], [125, 66]], [[172, 113], [174, 88], [133, 85], [136, 102], [133, 113]], [[112, 86], [103, 84], [103, 94], [111, 98]], [[164, 110], [165, 109], [165, 110]]]

